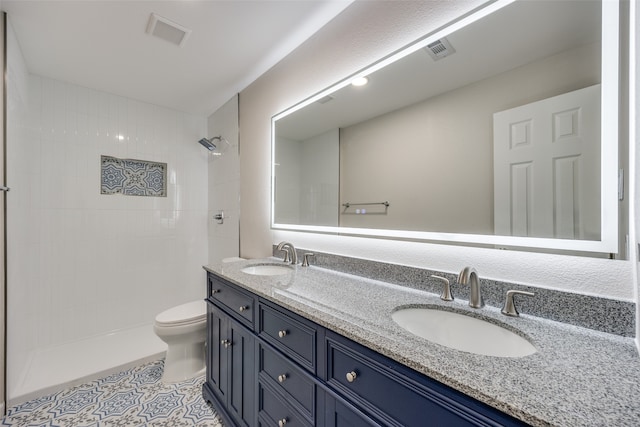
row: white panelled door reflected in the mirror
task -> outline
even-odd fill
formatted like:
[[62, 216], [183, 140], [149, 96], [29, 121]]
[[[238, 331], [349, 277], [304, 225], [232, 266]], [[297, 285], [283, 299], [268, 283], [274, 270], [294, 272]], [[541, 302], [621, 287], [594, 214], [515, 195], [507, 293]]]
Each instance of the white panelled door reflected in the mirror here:
[[497, 235], [600, 240], [600, 85], [495, 113]]

